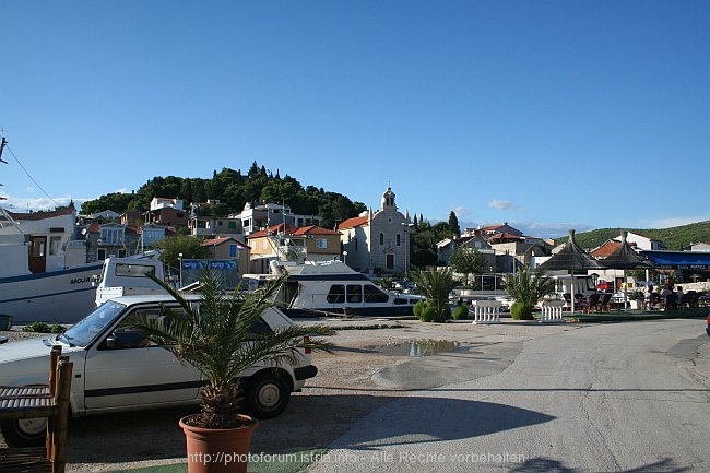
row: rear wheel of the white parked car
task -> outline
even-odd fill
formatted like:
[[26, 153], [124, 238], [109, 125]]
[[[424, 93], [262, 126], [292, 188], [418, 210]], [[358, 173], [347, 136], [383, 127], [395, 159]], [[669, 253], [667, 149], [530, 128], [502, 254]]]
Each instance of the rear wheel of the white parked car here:
[[247, 381], [244, 403], [257, 418], [279, 416], [291, 399], [291, 387], [279, 373], [260, 373]]

